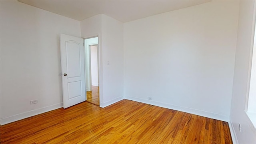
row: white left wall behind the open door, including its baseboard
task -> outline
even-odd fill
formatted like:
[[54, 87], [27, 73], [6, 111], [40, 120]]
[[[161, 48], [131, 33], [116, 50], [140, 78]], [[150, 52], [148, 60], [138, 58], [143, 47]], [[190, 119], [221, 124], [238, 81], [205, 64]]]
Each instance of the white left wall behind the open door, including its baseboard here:
[[0, 28], [1, 124], [62, 107], [59, 35], [80, 37], [80, 22], [1, 1]]

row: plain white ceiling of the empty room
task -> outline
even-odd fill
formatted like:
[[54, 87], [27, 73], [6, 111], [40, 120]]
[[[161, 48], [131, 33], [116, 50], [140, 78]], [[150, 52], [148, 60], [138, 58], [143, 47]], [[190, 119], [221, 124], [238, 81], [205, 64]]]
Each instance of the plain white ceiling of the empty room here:
[[75, 20], [106, 14], [129, 22], [155, 14], [195, 6], [210, 0], [18, 0]]

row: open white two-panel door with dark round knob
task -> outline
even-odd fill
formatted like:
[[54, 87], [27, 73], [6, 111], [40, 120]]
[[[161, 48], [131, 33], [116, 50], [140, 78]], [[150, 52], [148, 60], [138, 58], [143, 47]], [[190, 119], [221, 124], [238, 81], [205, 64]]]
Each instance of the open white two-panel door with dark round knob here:
[[84, 40], [60, 34], [63, 108], [86, 100]]

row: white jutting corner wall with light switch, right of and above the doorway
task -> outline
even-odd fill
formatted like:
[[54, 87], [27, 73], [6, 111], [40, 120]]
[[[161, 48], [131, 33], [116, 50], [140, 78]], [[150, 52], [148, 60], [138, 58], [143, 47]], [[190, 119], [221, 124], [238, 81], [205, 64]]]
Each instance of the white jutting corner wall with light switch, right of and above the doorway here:
[[[100, 106], [123, 99], [124, 53], [123, 23], [104, 14], [81, 21], [83, 38], [99, 38]], [[110, 65], [108, 65], [108, 61]]]

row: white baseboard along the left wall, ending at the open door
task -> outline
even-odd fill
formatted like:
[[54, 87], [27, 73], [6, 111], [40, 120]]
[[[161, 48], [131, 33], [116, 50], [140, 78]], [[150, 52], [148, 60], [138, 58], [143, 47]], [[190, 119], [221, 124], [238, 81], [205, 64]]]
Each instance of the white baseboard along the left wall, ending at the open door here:
[[54, 105], [51, 105], [51, 106], [46, 106], [44, 108], [38, 108], [36, 110], [30, 110], [28, 112], [23, 112], [21, 114], [16, 114], [14, 116], [1, 118], [0, 123], [1, 123], [1, 125], [8, 124], [8, 123], [11, 123], [11, 122], [22, 120], [24, 118], [28, 118], [28, 117], [31, 117], [31, 116], [36, 116], [36, 115], [42, 114], [44, 112], [49, 112], [51, 110], [56, 110], [56, 109], [62, 108], [62, 107], [63, 107], [63, 103], [61, 102], [61, 103], [54, 104]]

